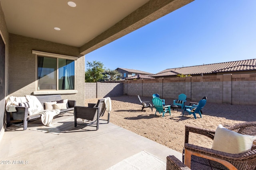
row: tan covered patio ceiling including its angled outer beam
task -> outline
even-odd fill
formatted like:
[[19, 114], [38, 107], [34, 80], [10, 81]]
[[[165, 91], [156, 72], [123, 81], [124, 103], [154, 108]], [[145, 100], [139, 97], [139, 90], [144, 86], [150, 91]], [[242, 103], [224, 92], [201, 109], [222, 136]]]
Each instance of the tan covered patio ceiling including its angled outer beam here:
[[[9, 33], [94, 51], [193, 0], [0, 0]], [[56, 31], [54, 27], [60, 28]]]

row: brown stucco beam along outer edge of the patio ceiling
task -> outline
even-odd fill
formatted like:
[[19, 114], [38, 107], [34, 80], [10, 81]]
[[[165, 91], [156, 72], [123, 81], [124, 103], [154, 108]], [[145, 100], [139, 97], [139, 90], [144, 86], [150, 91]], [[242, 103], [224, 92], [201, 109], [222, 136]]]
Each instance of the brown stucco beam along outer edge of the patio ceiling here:
[[194, 0], [150, 0], [94, 39], [85, 43], [80, 47], [80, 54], [86, 55], [192, 1]]

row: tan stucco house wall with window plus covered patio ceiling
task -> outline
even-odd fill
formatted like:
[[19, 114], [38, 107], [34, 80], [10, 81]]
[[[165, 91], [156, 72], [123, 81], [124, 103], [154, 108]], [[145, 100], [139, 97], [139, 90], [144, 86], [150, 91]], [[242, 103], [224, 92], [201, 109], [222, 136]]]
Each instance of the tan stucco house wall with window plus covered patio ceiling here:
[[8, 96], [61, 94], [84, 106], [86, 54], [192, 1], [0, 0], [0, 140]]

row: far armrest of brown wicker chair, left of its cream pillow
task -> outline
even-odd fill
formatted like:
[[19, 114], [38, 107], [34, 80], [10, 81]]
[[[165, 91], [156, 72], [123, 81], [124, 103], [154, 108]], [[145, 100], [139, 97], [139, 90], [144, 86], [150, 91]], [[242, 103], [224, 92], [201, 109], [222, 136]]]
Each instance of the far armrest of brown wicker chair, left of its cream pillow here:
[[204, 129], [204, 128], [200, 128], [200, 127], [194, 127], [194, 126], [186, 125], [185, 126], [185, 143], [188, 143], [189, 132], [197, 133], [197, 134], [200, 134], [200, 135], [204, 135], [206, 137], [209, 137], [212, 140], [213, 140], [214, 135], [215, 135], [215, 131], [214, 130]]

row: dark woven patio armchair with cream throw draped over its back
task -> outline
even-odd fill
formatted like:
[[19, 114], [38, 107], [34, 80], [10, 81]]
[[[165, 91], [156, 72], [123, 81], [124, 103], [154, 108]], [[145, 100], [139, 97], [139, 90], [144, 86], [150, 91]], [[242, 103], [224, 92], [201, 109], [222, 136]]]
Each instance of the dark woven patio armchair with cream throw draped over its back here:
[[[74, 107], [74, 119], [75, 119], [75, 127], [77, 126], [77, 118], [86, 119], [90, 123], [87, 125], [92, 125], [96, 122], [96, 130], [99, 129], [99, 121], [102, 120], [100, 117], [104, 115], [106, 110], [106, 106], [104, 103], [104, 99], [98, 100], [97, 104], [88, 104], [88, 107], [85, 106], [75, 106]], [[108, 113], [108, 123], [110, 119], [110, 113]]]

